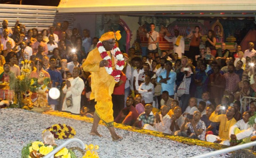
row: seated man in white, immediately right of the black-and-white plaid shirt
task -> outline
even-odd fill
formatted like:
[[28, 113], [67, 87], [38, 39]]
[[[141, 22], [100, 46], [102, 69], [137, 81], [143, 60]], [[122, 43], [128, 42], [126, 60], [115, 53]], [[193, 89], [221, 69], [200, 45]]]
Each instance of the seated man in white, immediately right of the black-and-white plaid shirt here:
[[168, 107], [166, 105], [161, 106], [161, 114], [155, 113], [156, 124], [154, 126], [145, 124], [143, 129], [171, 134], [171, 118], [167, 113]]

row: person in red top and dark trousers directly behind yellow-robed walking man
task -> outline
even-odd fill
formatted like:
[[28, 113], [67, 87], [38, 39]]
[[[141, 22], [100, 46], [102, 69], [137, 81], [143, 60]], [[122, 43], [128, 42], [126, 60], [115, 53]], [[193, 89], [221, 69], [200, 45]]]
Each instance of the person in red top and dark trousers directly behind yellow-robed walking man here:
[[119, 112], [125, 107], [125, 82], [126, 76], [123, 72], [121, 72], [120, 80], [116, 83], [112, 94], [114, 118], [116, 118]]

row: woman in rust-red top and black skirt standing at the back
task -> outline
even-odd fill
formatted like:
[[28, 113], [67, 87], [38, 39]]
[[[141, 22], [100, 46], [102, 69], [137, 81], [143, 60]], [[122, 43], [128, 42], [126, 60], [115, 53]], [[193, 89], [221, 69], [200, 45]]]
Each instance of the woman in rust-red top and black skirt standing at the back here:
[[191, 37], [191, 42], [190, 42], [190, 46], [189, 46], [189, 51], [185, 52], [185, 56], [193, 59], [192, 64], [194, 66], [196, 66], [195, 56], [200, 55], [199, 45], [201, 42], [200, 39], [201, 39], [202, 35], [199, 31], [200, 31], [199, 26], [195, 26], [195, 31], [191, 31], [190, 34], [186, 37], [186, 38]]

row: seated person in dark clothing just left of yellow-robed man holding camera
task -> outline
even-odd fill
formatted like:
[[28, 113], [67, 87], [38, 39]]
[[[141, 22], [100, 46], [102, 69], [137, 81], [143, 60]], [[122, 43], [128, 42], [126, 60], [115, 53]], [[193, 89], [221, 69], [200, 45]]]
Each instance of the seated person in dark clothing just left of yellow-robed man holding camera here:
[[212, 106], [210, 107], [207, 107], [206, 108], [206, 114], [204, 114], [202, 117], [201, 117], [201, 120], [204, 121], [205, 123], [205, 126], [206, 126], [206, 130], [205, 130], [205, 135], [207, 134], [213, 134], [213, 135], [216, 135], [216, 126], [217, 126], [217, 123], [216, 122], [212, 122], [209, 120], [209, 117], [211, 116], [211, 114], [214, 112], [214, 108]]

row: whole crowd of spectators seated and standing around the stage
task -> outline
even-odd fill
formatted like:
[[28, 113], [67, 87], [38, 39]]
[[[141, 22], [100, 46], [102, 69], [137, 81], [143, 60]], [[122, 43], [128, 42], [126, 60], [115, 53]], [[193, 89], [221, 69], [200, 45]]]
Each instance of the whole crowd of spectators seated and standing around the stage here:
[[[8, 20], [2, 25], [0, 81], [9, 82], [9, 73], [19, 76], [21, 61], [31, 60], [36, 71], [30, 77], [43, 73], [52, 81], [48, 87], [61, 91], [59, 99], [48, 97], [54, 110], [92, 116], [91, 76], [81, 65], [99, 39], [91, 38], [87, 29], [82, 36], [77, 28], [70, 30], [67, 21], [41, 32], [36, 28], [26, 31], [18, 22], [12, 31]], [[215, 33], [209, 30], [205, 48], [200, 50], [202, 35], [196, 26], [186, 37], [191, 38], [189, 51], [175, 30], [175, 37], [165, 36], [174, 50], [160, 52], [159, 34], [153, 23], [150, 26], [147, 56], [135, 48], [122, 51], [126, 64], [112, 95], [114, 121], [231, 146], [249, 142], [256, 130], [248, 125], [256, 102], [241, 104], [240, 100], [256, 94], [253, 42], [244, 52], [240, 45], [231, 52], [225, 43], [216, 49]], [[69, 107], [65, 98], [71, 95], [73, 106]], [[10, 90], [0, 90], [0, 98], [13, 97]]]

